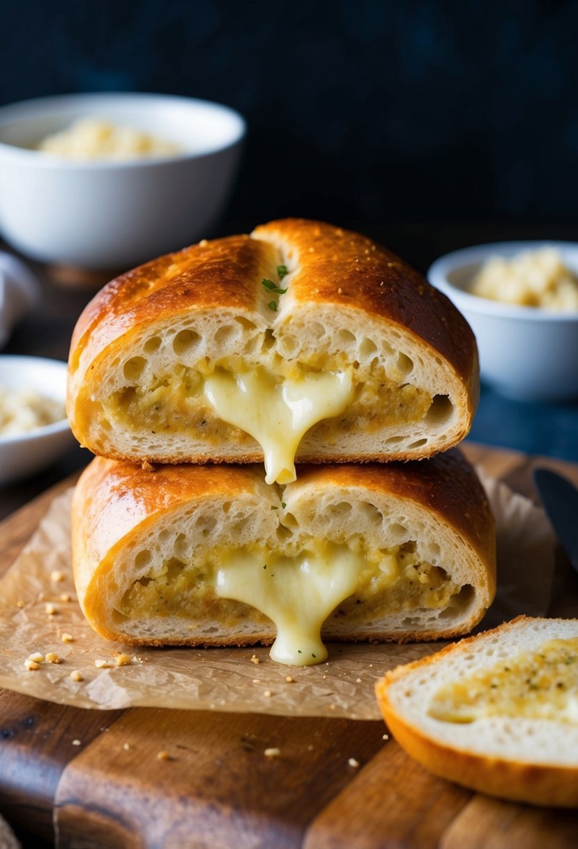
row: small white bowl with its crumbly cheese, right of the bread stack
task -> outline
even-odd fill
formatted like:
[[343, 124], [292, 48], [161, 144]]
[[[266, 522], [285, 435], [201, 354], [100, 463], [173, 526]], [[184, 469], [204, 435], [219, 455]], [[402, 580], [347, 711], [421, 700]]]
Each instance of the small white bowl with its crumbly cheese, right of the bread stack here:
[[427, 276], [470, 323], [482, 380], [520, 401], [578, 397], [578, 243], [475, 245]]

